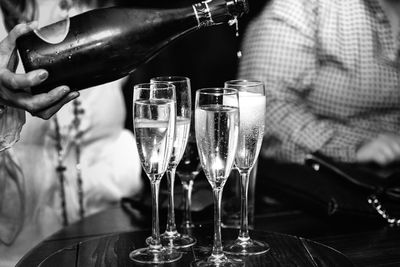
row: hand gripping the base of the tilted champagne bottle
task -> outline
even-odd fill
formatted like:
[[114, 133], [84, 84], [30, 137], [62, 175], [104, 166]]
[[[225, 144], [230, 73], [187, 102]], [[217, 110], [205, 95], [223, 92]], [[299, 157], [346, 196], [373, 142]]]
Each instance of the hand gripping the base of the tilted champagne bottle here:
[[19, 24], [0, 42], [0, 104], [24, 109], [34, 116], [49, 119], [64, 104], [79, 96], [69, 87], [59, 86], [48, 93], [32, 95], [30, 87], [37, 86], [48, 77], [48, 72], [37, 69], [25, 74], [16, 74], [18, 57], [16, 39], [32, 31], [36, 23]]

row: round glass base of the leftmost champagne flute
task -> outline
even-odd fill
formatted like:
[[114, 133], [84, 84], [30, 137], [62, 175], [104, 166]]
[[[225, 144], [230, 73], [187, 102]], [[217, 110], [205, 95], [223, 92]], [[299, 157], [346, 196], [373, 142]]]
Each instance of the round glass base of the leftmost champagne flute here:
[[129, 258], [137, 263], [160, 264], [178, 261], [182, 258], [182, 253], [164, 247], [160, 249], [147, 247], [132, 251]]

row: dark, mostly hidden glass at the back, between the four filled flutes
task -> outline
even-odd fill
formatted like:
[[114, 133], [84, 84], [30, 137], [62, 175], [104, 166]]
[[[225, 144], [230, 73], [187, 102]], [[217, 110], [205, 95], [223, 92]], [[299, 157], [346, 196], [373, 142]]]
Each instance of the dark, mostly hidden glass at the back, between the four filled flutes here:
[[201, 165], [200, 158], [197, 152], [196, 137], [194, 136], [194, 125], [190, 124], [189, 140], [186, 145], [186, 150], [183, 153], [181, 162], [176, 169], [176, 173], [181, 180], [183, 188], [183, 220], [182, 230], [184, 234], [190, 233], [191, 229], [194, 228], [192, 221], [192, 191], [194, 179], [200, 173]]

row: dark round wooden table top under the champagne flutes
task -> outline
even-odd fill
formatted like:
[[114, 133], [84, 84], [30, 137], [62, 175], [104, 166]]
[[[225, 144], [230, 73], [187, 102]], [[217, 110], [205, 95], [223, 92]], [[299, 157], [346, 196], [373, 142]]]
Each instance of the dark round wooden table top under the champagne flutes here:
[[[237, 234], [236, 229], [222, 229], [224, 243], [234, 240]], [[130, 260], [129, 253], [145, 247], [145, 239], [149, 235], [149, 231], [134, 231], [96, 237], [55, 252], [39, 266], [64, 267], [71, 266], [71, 263], [85, 267], [143, 266]], [[212, 225], [194, 229], [193, 235], [197, 238], [197, 244], [183, 250], [182, 259], [165, 266], [190, 266], [192, 261], [210, 254]], [[354, 266], [342, 253], [305, 238], [265, 231], [250, 231], [250, 236], [267, 242], [271, 249], [263, 255], [239, 258], [244, 266]]]

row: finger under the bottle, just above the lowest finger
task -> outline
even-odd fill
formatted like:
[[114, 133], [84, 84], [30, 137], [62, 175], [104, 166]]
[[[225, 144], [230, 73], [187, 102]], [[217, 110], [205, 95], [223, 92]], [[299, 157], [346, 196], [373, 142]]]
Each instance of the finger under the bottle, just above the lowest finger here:
[[29, 93], [19, 93], [16, 95], [16, 104], [32, 114], [55, 105], [58, 101], [69, 94], [70, 89], [67, 86], [57, 87], [48, 93], [31, 95]]

